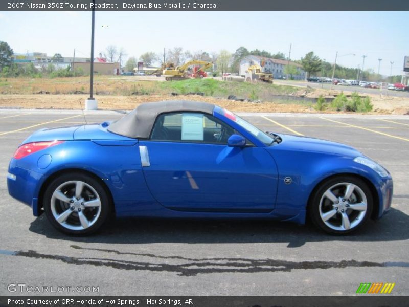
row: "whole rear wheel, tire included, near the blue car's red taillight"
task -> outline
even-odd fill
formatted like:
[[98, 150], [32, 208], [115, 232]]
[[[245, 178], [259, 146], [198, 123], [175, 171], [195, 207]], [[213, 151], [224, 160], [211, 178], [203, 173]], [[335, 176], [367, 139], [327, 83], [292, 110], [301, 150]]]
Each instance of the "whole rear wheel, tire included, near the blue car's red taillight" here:
[[106, 221], [110, 208], [102, 185], [82, 173], [54, 179], [44, 193], [43, 206], [57, 230], [74, 235], [95, 232]]

